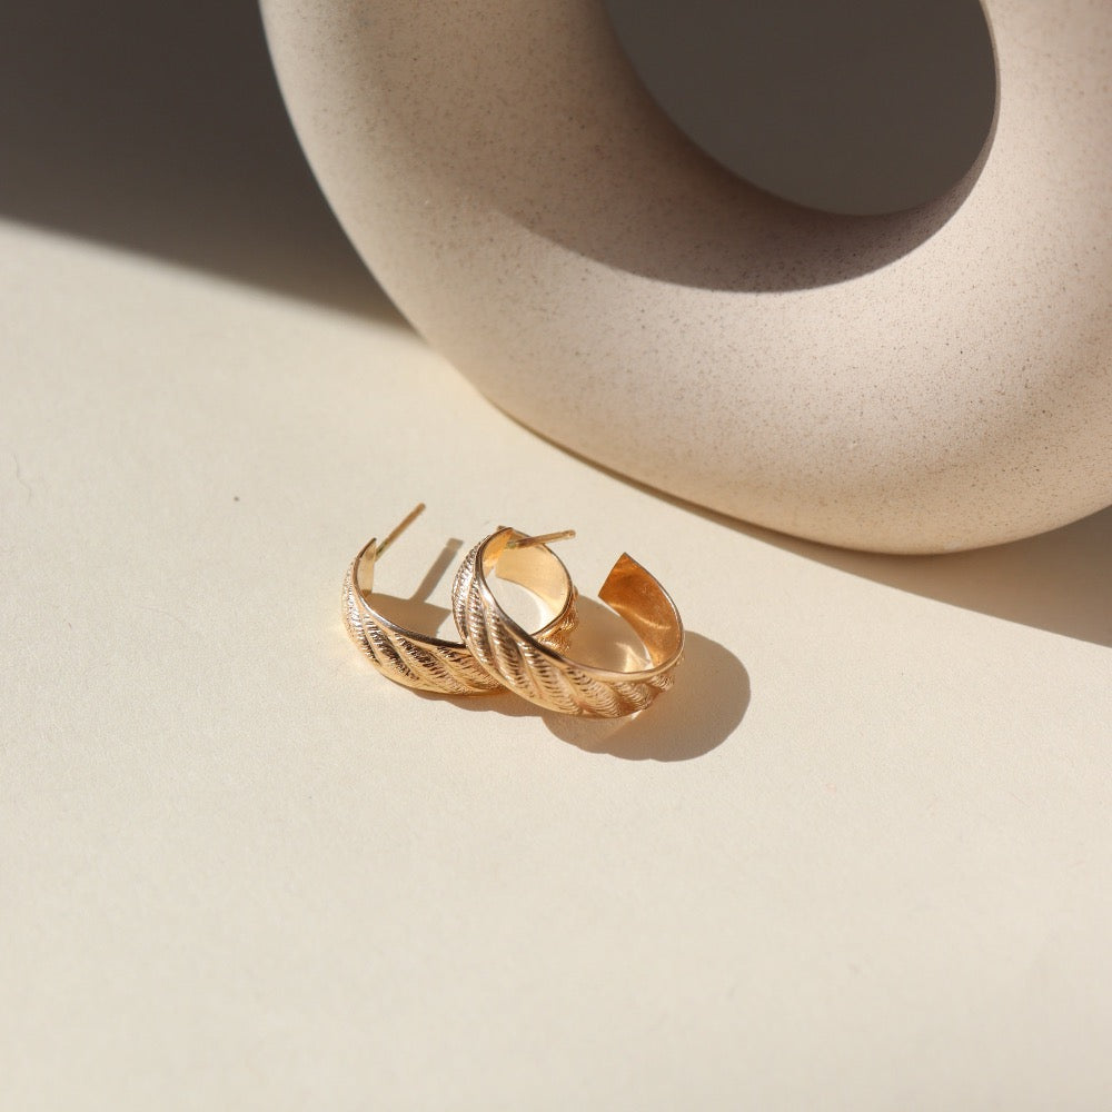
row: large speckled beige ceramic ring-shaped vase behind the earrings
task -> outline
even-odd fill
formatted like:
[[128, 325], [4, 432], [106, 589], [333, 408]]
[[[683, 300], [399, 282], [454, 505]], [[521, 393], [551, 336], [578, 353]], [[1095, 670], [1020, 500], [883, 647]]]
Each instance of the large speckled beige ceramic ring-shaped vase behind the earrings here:
[[301, 142], [415, 326], [597, 463], [932, 552], [1112, 500], [1112, 6], [993, 0], [994, 135], [911, 215], [698, 153], [596, 0], [264, 0]]

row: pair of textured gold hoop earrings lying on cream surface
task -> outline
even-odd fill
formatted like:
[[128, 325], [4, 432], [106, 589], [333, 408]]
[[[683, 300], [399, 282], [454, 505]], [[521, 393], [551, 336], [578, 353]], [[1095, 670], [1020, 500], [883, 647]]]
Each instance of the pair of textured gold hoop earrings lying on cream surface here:
[[[684, 627], [668, 593], [623, 554], [598, 597], [641, 638], [648, 666], [628, 672], [599, 668], [567, 656], [577, 624], [577, 592], [548, 543], [575, 536], [528, 536], [499, 528], [464, 558], [451, 586], [460, 641], [445, 641], [395, 624], [371, 603], [375, 564], [425, 509], [416, 506], [385, 540], [368, 540], [344, 579], [344, 622], [351, 639], [385, 676], [407, 687], [445, 695], [480, 695], [508, 688], [548, 711], [618, 717], [643, 711], [672, 686], [684, 649]], [[503, 608], [489, 577], [519, 584], [553, 613], [529, 632]]]

